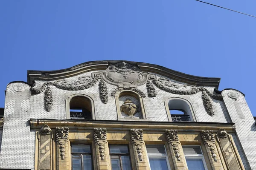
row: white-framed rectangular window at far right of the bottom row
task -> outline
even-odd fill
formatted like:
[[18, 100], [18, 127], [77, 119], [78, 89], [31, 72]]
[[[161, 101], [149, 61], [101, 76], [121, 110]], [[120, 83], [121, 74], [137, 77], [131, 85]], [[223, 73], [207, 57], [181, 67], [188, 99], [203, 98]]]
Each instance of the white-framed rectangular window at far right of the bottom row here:
[[200, 146], [183, 145], [182, 148], [189, 170], [207, 170]]

